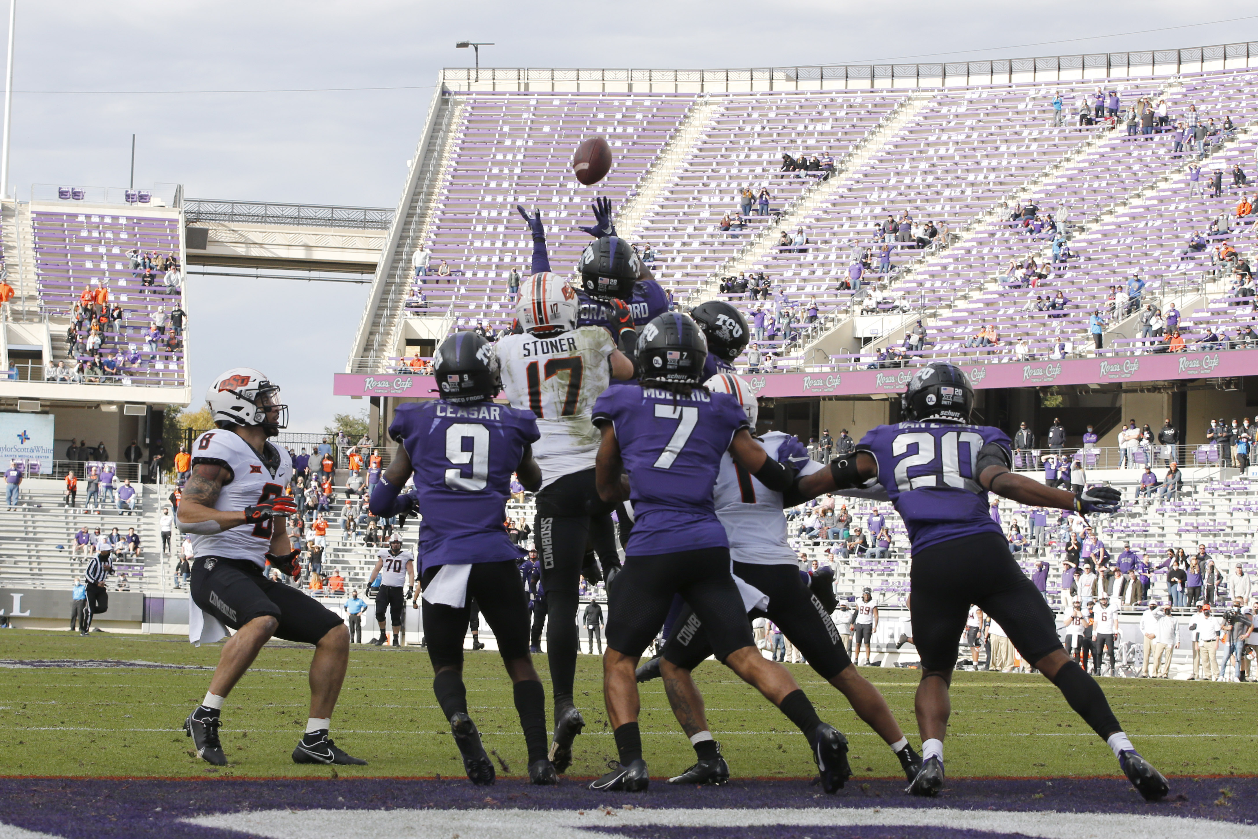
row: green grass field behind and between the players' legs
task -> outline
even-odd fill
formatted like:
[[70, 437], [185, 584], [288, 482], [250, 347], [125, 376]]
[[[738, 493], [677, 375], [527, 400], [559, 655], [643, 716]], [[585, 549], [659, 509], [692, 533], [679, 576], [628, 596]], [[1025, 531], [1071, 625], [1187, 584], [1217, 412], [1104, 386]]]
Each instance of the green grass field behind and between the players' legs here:
[[[289, 758], [307, 716], [309, 648], [270, 644], [223, 709], [230, 765], [214, 770], [190, 751], [181, 725], [204, 696], [206, 669], [142, 667], [13, 668], [13, 660], [114, 659], [213, 668], [218, 645], [192, 648], [170, 635], [13, 630], [0, 633], [0, 775], [79, 776], [327, 776], [327, 767]], [[537, 669], [550, 694], [545, 655]], [[899, 765], [848, 707], [805, 665], [788, 665], [821, 718], [852, 742], [857, 776], [891, 777]], [[13, 669], [9, 669], [13, 668]], [[866, 669], [886, 694], [910, 740], [916, 672]], [[603, 709], [600, 659], [582, 655], [576, 672], [586, 730], [570, 775], [593, 776], [615, 755]], [[511, 686], [496, 653], [468, 653], [468, 703], [486, 747], [525, 770], [525, 745]], [[801, 735], [759, 693], [716, 662], [696, 670], [708, 720], [735, 776], [809, 776]], [[693, 751], [681, 735], [660, 682], [642, 686], [645, 757], [657, 775], [681, 771]], [[1258, 703], [1252, 684], [1102, 679], [1137, 748], [1167, 775], [1252, 772]], [[355, 647], [332, 733], [366, 767], [342, 776], [459, 776], [462, 764], [431, 691], [431, 667], [418, 648]], [[957, 673], [952, 683], [949, 775], [1115, 775], [1113, 756], [1038, 675]]]

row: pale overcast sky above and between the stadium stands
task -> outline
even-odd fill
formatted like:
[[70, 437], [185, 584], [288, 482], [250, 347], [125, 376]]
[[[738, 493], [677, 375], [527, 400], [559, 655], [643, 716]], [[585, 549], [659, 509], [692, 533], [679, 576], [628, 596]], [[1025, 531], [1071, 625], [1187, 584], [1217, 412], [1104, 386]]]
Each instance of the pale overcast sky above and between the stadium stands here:
[[[1201, 21], [1227, 23], [1184, 28]], [[1092, 35], [1106, 36], [1078, 40]], [[472, 63], [472, 50], [454, 49], [463, 39], [494, 43], [481, 50], [486, 67], [907, 63], [1258, 40], [1258, 10], [1239, 0], [19, 0], [11, 190], [26, 200], [33, 184], [125, 186], [136, 133], [137, 185], [394, 206], [440, 68]], [[233, 92], [293, 88], [406, 89]], [[362, 406], [330, 394], [365, 298], [365, 286], [190, 279], [198, 400], [213, 375], [243, 364], [284, 386], [297, 430]]]

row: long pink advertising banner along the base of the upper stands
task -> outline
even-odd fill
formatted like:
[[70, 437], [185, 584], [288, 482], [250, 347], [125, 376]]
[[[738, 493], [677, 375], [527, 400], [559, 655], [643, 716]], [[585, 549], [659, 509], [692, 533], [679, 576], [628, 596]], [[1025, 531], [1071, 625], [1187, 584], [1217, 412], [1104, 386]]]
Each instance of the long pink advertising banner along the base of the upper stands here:
[[[1258, 375], [1258, 350], [1067, 358], [1029, 364], [964, 364], [961, 369], [977, 389], [1220, 379]], [[743, 379], [757, 396], [859, 396], [901, 392], [908, 386], [915, 370], [916, 367], [847, 372], [743, 374]], [[430, 399], [435, 387], [437, 382], [431, 376], [366, 376], [338, 372], [333, 376], [332, 392], [336, 396]]]

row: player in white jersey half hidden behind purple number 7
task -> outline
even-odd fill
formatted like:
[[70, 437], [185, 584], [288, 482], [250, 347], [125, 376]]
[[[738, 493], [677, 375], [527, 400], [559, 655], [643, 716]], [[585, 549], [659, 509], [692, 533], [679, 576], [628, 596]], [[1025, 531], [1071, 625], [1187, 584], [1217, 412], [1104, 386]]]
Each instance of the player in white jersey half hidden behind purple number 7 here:
[[[747, 413], [751, 428], [756, 426], [756, 397], [746, 381], [722, 374], [710, 379], [707, 389], [737, 399]], [[799, 468], [800, 474], [825, 468], [808, 457], [799, 440], [782, 431], [769, 431], [760, 438], [760, 444], [765, 454]], [[743, 592], [743, 604], [752, 606], [752, 615], [767, 614], [813, 669], [848, 698], [857, 716], [891, 746], [905, 776], [912, 781], [921, 767], [921, 757], [908, 745], [882, 693], [857, 672], [848, 657], [839, 630], [830, 619], [830, 613], [838, 608], [830, 570], [825, 569], [825, 574], [819, 574], [816, 580], [805, 582], [808, 575], [800, 572], [795, 551], [786, 543], [782, 493], [765, 487], [726, 452], [721, 455], [715, 501], [716, 514], [730, 537], [733, 576]], [[767, 605], [764, 604], [766, 596]], [[691, 672], [712, 654], [712, 642], [689, 606], [682, 610], [673, 629], [662, 659], [638, 670], [639, 681], [654, 674], [664, 677], [669, 704], [697, 755], [696, 764], [669, 779], [669, 784], [725, 784], [730, 769], [708, 731], [703, 697], [691, 677]]]

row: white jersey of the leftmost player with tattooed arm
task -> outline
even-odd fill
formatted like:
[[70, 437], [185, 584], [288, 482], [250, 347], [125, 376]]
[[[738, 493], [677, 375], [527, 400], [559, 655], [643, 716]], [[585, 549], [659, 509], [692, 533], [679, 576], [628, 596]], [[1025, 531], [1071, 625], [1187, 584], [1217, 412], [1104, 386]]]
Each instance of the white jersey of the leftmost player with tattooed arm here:
[[[244, 509], [284, 494], [293, 478], [293, 462], [283, 448], [265, 444], [267, 460], [249, 448], [235, 431], [215, 429], [192, 443], [192, 465], [216, 463], [231, 469], [231, 481], [223, 487], [215, 509]], [[195, 556], [218, 556], [226, 560], [249, 560], [259, 567], [267, 565], [270, 550], [272, 522], [239, 525], [211, 536], [192, 536]]]

